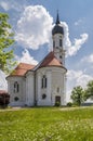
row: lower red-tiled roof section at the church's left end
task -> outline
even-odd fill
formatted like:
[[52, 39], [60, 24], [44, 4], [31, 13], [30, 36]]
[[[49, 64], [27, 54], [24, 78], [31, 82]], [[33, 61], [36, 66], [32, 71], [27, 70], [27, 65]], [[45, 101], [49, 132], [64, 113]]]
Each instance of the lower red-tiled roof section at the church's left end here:
[[19, 63], [10, 76], [24, 76], [27, 70], [32, 69], [35, 65]]

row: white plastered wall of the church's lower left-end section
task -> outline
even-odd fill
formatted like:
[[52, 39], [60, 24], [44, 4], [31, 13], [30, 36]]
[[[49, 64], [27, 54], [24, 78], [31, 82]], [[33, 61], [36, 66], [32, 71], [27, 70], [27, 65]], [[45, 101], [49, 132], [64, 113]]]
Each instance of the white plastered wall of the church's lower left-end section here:
[[[18, 92], [14, 92], [14, 82], [17, 81], [19, 85]], [[24, 106], [25, 103], [25, 78], [24, 77], [9, 77], [8, 78], [8, 91], [10, 94], [10, 105], [11, 106]], [[18, 98], [18, 101], [15, 101], [15, 97]]]

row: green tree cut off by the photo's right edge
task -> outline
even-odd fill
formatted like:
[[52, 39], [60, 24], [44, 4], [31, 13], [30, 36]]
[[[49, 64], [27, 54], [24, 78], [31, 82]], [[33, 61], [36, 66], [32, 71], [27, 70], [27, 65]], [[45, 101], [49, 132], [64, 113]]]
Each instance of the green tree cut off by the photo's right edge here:
[[85, 99], [93, 98], [93, 80], [89, 81], [85, 89]]

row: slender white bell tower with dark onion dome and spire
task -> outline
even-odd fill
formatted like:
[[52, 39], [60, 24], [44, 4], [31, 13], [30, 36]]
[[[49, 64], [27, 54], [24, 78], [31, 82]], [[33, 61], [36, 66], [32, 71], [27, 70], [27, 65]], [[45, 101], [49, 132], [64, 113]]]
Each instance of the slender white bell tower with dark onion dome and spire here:
[[64, 28], [59, 22], [59, 16], [57, 12], [56, 23], [52, 29], [52, 39], [53, 39], [53, 51], [57, 60], [65, 66], [65, 49], [63, 46], [64, 39]]

